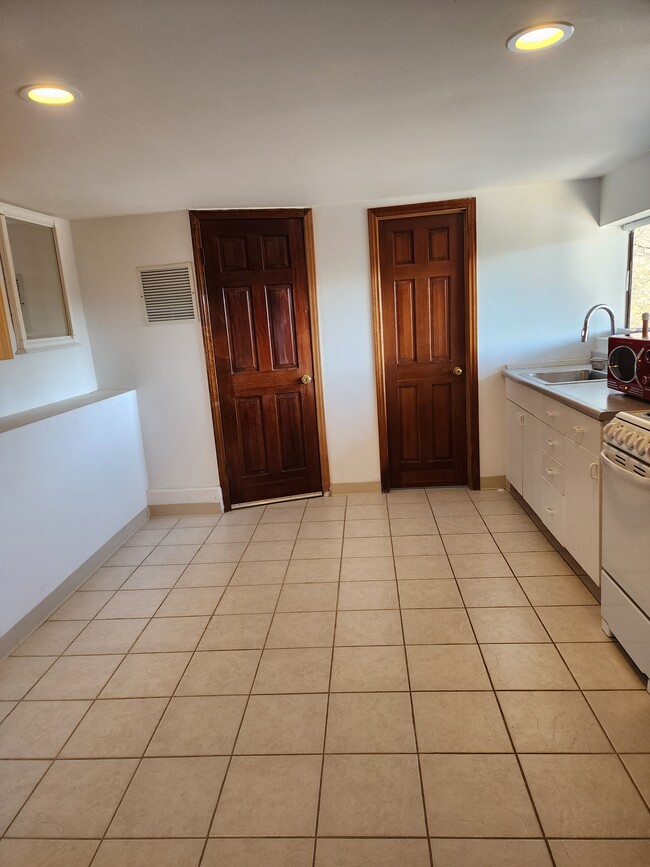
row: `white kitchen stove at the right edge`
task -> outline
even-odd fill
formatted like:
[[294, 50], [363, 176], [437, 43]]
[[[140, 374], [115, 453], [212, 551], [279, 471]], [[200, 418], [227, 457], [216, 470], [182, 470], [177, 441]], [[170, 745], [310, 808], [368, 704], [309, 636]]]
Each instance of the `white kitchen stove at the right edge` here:
[[603, 435], [603, 629], [650, 675], [650, 411], [620, 412]]

